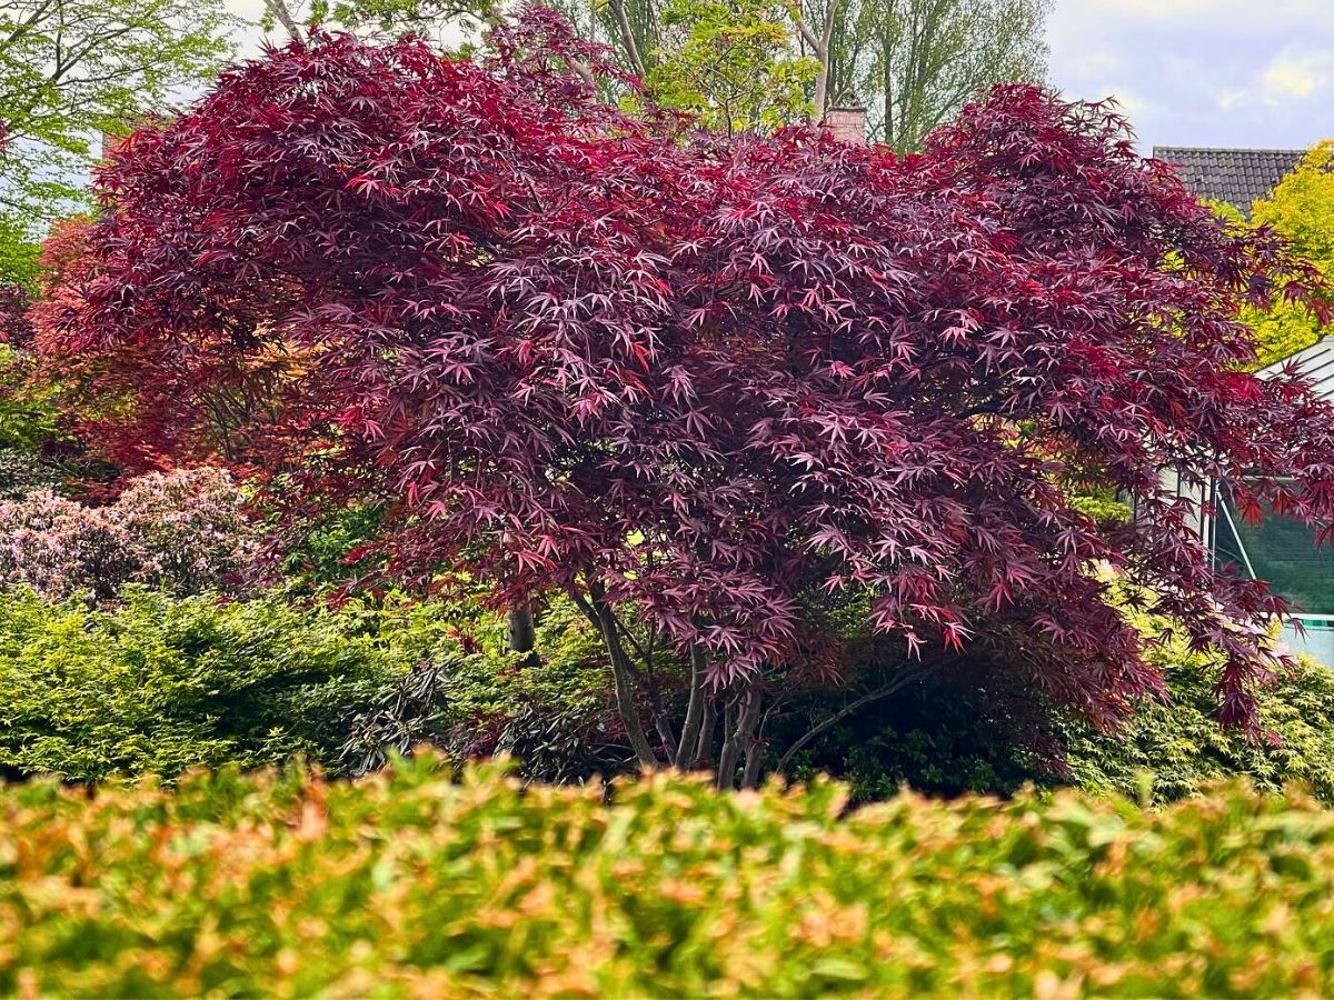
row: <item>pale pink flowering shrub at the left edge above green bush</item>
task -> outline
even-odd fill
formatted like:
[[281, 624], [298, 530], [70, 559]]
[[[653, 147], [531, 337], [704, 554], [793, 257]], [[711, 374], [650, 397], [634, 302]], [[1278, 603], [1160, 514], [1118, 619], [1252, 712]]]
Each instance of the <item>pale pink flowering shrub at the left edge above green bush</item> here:
[[235, 583], [256, 548], [244, 496], [225, 469], [153, 472], [89, 507], [39, 491], [0, 501], [0, 583], [96, 603], [127, 583], [177, 595]]

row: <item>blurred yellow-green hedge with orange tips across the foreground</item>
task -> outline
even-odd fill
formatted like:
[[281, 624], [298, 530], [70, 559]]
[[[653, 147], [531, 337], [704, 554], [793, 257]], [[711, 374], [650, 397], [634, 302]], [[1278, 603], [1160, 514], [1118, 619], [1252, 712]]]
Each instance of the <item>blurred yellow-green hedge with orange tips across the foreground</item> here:
[[1325, 992], [1334, 812], [1219, 789], [522, 789], [430, 760], [0, 792], [0, 992]]

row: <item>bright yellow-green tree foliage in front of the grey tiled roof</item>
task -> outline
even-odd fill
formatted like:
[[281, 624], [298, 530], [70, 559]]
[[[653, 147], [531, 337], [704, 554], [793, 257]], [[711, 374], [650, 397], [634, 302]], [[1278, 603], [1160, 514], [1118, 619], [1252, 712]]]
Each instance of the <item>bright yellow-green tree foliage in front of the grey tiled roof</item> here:
[[[1231, 219], [1241, 213], [1231, 209]], [[1294, 249], [1334, 279], [1334, 140], [1317, 144], [1267, 199], [1251, 207], [1251, 223], [1278, 229]], [[1262, 364], [1287, 357], [1322, 336], [1321, 321], [1302, 303], [1279, 301], [1246, 321], [1259, 337]]]

